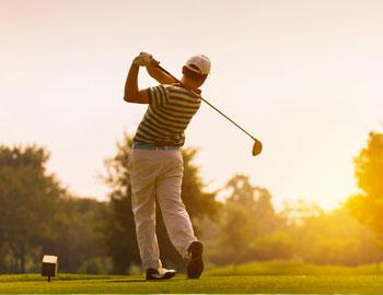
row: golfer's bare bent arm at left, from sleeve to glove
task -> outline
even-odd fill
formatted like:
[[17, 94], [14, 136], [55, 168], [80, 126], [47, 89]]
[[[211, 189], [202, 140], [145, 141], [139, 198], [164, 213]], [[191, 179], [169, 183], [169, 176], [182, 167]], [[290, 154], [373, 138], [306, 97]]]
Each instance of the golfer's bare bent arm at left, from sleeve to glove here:
[[[136, 60], [136, 59], [135, 59]], [[125, 82], [124, 101], [135, 104], [149, 104], [148, 90], [138, 88], [139, 64], [132, 62]]]

